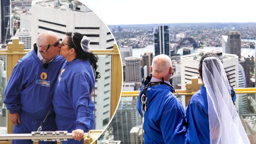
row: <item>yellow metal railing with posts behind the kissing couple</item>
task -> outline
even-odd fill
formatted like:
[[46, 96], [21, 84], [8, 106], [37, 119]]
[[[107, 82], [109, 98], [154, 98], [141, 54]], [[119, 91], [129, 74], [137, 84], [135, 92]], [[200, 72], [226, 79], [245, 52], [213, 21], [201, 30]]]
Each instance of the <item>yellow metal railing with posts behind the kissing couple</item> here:
[[[7, 81], [9, 80], [12, 69], [17, 64], [17, 61], [21, 59], [25, 54], [27, 54], [31, 50], [24, 50], [24, 43], [19, 41], [18, 37], [13, 37], [12, 42], [7, 44], [7, 50], [0, 50], [0, 55], [7, 55]], [[93, 54], [97, 55], [112, 55], [111, 60], [111, 102], [110, 102], [110, 119], [113, 117], [117, 104], [120, 99], [121, 94], [121, 86], [122, 86], [122, 75], [123, 75], [123, 68], [121, 65], [121, 58], [118, 52], [117, 44], [114, 44], [113, 50], [102, 50], [96, 49], [91, 50]], [[13, 129], [13, 124], [9, 119], [9, 111], [7, 114], [7, 133], [11, 134]], [[84, 139], [84, 143], [91, 143], [96, 140], [101, 130], [92, 130], [89, 134], [89, 137]], [[0, 141], [0, 144], [11, 144], [11, 140], [7, 141]]]

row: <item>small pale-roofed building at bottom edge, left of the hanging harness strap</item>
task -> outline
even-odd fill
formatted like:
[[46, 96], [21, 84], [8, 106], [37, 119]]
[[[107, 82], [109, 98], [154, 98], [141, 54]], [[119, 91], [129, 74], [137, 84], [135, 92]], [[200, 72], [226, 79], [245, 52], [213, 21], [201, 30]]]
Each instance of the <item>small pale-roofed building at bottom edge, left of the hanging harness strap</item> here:
[[[141, 143], [141, 134], [142, 134], [141, 125], [136, 125], [136, 126], [132, 127], [132, 129], [130, 131], [131, 144], [140, 144]], [[144, 141], [144, 139], [143, 139], [143, 141]]]

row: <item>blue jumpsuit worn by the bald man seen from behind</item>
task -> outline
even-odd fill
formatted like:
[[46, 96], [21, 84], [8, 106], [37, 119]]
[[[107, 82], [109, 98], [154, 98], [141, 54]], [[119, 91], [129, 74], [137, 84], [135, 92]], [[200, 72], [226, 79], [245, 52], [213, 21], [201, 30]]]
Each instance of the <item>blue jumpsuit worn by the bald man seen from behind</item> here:
[[[144, 88], [144, 87], [143, 87]], [[141, 112], [141, 93], [138, 111]], [[184, 108], [166, 84], [149, 86], [147, 90], [147, 110], [144, 121], [144, 140], [147, 143], [184, 143], [186, 119]]]

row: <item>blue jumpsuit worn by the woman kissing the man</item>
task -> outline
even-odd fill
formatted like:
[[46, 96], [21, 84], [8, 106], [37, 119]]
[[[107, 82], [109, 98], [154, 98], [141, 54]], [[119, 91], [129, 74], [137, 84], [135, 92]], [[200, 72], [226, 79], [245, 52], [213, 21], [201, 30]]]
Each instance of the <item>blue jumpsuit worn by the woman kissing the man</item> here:
[[[76, 59], [63, 65], [52, 100], [59, 131], [72, 132], [82, 129], [88, 132], [94, 129], [95, 105], [90, 98], [94, 84], [95, 78], [90, 61]], [[83, 141], [68, 139], [62, 143], [82, 144]]]

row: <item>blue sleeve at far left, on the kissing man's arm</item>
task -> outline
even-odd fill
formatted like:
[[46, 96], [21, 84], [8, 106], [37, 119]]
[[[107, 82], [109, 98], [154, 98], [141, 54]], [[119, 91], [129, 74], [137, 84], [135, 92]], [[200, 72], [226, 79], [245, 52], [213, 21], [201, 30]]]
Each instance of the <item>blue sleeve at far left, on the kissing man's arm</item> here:
[[20, 111], [20, 92], [22, 91], [22, 77], [23, 74], [16, 65], [4, 92], [4, 103], [6, 108], [10, 110], [11, 114]]

